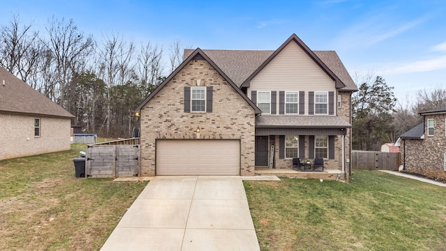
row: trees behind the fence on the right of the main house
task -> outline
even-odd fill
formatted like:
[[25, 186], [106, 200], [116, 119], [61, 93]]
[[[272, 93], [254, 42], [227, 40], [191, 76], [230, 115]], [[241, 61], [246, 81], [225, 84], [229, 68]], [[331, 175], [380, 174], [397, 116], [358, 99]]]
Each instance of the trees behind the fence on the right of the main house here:
[[422, 89], [406, 102], [394, 98], [394, 87], [373, 73], [356, 75], [358, 91], [352, 96], [352, 144], [354, 150], [380, 151], [404, 132], [423, 122], [418, 113], [446, 107], [446, 90]]

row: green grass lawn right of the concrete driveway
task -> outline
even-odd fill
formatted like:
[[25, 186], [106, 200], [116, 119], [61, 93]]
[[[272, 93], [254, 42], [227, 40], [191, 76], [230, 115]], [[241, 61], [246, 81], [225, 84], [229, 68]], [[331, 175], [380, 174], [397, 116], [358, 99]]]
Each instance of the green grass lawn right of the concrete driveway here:
[[443, 187], [364, 170], [244, 184], [261, 250], [446, 250]]

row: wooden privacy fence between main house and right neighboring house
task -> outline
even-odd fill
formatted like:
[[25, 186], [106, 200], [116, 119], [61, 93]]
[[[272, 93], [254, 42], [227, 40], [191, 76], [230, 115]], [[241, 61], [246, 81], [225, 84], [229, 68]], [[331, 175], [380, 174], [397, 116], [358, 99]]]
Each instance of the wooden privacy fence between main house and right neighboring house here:
[[353, 169], [366, 170], [398, 170], [401, 165], [400, 153], [384, 153], [379, 151], [352, 151]]

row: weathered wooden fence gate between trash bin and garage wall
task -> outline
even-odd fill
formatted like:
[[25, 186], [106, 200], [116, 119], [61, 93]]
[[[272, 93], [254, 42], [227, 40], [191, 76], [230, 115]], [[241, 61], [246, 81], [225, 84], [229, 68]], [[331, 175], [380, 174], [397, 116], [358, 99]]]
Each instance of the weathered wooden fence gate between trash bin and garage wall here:
[[87, 176], [94, 178], [138, 176], [139, 147], [139, 138], [89, 144], [86, 149]]

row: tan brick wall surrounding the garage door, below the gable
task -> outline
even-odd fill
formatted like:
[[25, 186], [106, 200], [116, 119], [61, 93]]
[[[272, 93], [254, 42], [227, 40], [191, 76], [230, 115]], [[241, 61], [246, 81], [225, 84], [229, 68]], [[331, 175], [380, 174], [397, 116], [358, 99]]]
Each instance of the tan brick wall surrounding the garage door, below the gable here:
[[[184, 112], [184, 87], [213, 86], [213, 112]], [[155, 139], [240, 139], [240, 174], [254, 176], [255, 114], [205, 60], [191, 60], [141, 108], [141, 176], [155, 176]], [[197, 140], [200, 140], [197, 139]]]

